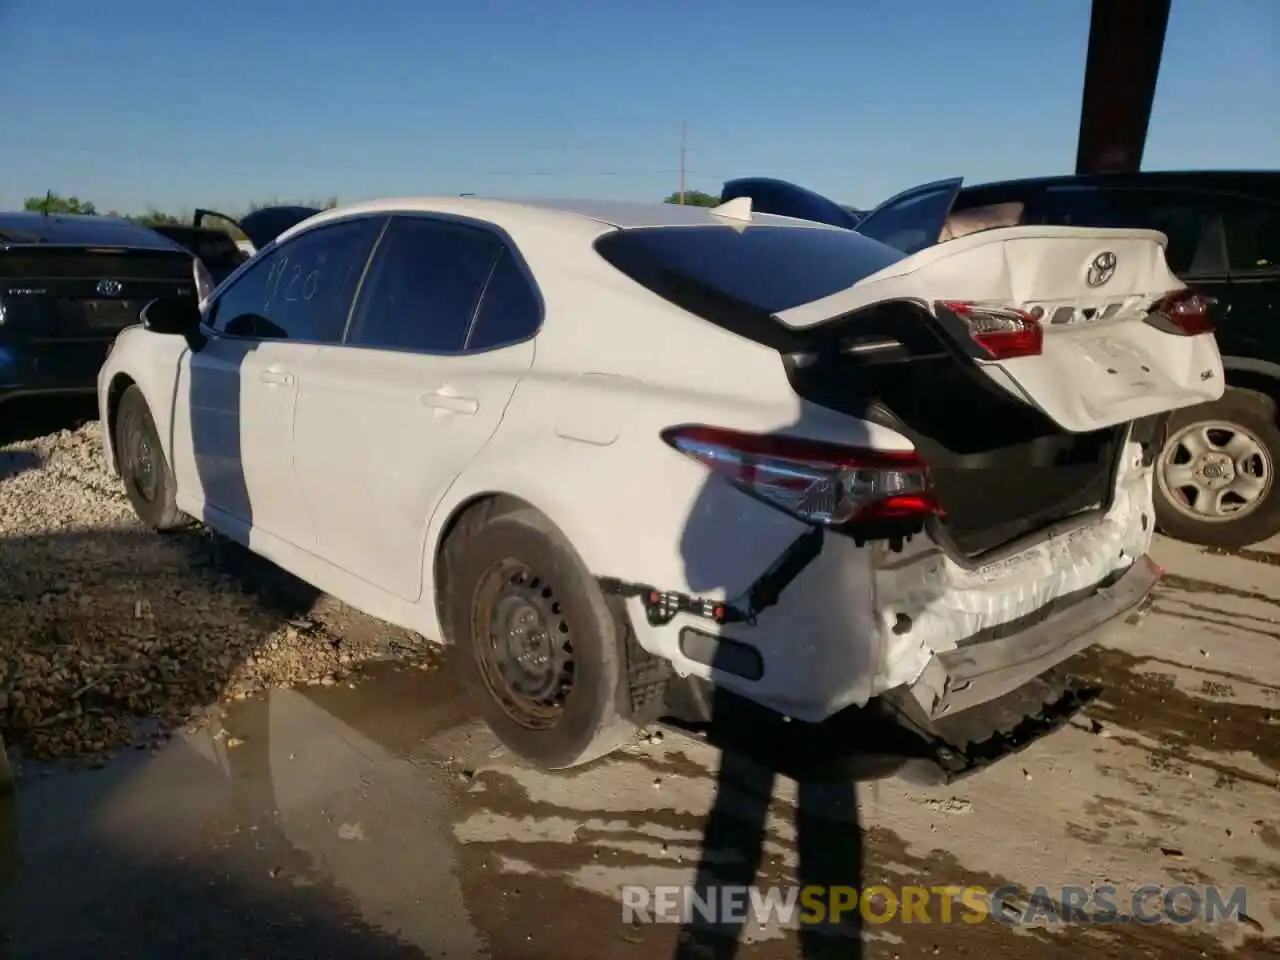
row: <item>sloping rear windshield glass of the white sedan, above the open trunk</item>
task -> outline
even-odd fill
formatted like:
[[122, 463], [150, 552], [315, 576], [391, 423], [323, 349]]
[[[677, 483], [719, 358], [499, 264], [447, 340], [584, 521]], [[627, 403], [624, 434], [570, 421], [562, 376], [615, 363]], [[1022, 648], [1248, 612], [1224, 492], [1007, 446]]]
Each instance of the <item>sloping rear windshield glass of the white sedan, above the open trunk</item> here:
[[690, 306], [701, 294], [778, 314], [902, 259], [852, 230], [817, 227], [646, 227], [605, 234], [596, 250], [634, 280], [703, 316], [707, 311]]

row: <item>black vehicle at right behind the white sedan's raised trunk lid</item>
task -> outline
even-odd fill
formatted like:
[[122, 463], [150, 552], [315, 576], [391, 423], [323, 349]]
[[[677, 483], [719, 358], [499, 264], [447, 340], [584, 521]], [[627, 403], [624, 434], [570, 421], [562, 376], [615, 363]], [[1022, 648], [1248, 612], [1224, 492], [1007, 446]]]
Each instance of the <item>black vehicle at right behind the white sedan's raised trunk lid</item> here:
[[[739, 188], [724, 198], [751, 196], [756, 210], [847, 225], [829, 207], [815, 216], [823, 211], [815, 195], [791, 189]], [[1158, 525], [1183, 540], [1230, 548], [1280, 532], [1280, 172], [1046, 177], [974, 187], [940, 180], [892, 197], [854, 229], [914, 253], [975, 229], [1018, 224], [1166, 234], [1170, 269], [1219, 301], [1229, 389], [1170, 417], [1156, 471]]]

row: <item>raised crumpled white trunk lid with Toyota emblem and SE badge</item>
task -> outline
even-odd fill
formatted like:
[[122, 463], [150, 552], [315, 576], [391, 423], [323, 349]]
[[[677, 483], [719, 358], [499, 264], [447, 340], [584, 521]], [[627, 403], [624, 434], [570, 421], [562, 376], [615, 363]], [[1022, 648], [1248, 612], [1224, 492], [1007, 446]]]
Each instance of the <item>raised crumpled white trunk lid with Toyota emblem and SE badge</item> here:
[[974, 362], [1062, 430], [1087, 433], [1222, 396], [1212, 334], [1180, 337], [1147, 323], [1155, 302], [1180, 289], [1162, 233], [1005, 227], [927, 247], [778, 319], [806, 329], [895, 301], [1028, 311], [1044, 332], [1038, 356]]

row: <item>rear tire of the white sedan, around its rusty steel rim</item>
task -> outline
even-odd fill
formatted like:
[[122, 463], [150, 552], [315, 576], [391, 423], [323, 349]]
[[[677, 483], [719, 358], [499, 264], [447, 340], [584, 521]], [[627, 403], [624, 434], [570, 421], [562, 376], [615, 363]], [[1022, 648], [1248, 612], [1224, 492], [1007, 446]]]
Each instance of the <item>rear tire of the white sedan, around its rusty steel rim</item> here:
[[[445, 545], [442, 607], [458, 646], [465, 681], [502, 744], [545, 769], [590, 763], [635, 736], [626, 718], [623, 630], [599, 585], [564, 536], [529, 508], [463, 522]], [[516, 669], [503, 654], [515, 631], [498, 630], [503, 611], [532, 617], [534, 640], [545, 654], [541, 676], [525, 675], [517, 691], [499, 669]], [[530, 613], [532, 611], [532, 613]], [[529, 631], [525, 626], [524, 630]], [[567, 654], [567, 664], [562, 660]], [[527, 686], [541, 685], [539, 691]]]

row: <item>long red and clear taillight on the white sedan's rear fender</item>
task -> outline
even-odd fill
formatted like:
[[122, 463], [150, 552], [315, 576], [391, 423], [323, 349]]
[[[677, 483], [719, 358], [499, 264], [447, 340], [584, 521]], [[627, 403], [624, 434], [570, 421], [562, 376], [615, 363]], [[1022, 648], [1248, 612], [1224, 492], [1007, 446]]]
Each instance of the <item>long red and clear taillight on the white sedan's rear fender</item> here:
[[662, 438], [735, 486], [809, 524], [942, 516], [929, 470], [914, 451], [870, 451], [714, 426]]

